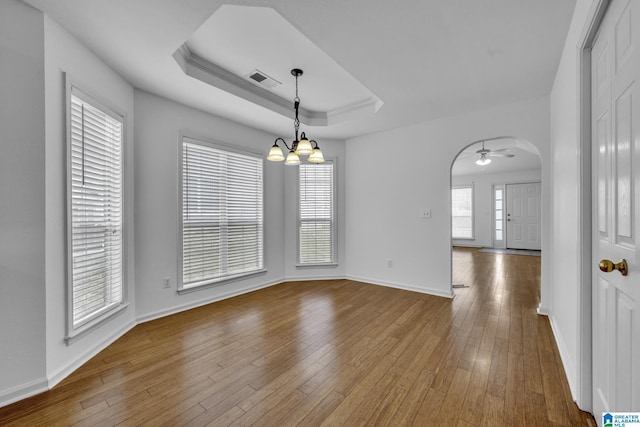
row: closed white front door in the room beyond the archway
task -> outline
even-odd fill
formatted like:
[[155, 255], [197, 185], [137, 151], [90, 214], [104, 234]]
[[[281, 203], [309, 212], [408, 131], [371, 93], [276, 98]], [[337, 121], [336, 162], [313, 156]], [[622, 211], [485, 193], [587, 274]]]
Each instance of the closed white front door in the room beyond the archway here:
[[507, 184], [507, 248], [540, 250], [540, 188]]

